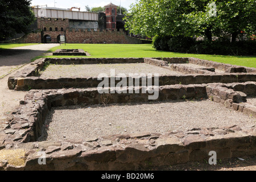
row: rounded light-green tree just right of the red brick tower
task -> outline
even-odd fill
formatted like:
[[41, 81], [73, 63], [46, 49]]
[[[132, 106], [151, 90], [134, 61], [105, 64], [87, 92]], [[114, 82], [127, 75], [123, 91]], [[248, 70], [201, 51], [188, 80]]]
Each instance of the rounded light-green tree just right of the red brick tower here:
[[141, 0], [126, 14], [126, 30], [148, 37], [185, 34], [187, 4], [186, 0]]

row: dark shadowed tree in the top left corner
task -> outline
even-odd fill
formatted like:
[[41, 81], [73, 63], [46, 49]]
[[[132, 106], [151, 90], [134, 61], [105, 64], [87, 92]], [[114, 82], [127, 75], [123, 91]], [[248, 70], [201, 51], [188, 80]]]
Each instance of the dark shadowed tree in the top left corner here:
[[30, 31], [30, 25], [35, 20], [30, 4], [31, 0], [0, 1], [0, 39]]

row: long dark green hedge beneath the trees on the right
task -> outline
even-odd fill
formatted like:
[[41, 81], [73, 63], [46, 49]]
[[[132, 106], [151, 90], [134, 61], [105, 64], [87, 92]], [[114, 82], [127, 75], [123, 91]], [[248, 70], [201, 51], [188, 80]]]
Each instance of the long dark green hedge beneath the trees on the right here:
[[153, 47], [161, 51], [197, 53], [207, 55], [255, 55], [256, 41], [247, 40], [230, 43], [229, 40], [195, 41], [185, 36], [156, 35]]

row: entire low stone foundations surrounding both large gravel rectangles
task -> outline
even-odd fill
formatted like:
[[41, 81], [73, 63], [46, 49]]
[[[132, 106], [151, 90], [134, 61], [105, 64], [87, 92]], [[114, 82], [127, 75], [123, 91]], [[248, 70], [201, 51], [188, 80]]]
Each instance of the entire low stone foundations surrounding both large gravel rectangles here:
[[[30, 88], [24, 101], [0, 126], [0, 150], [23, 150], [23, 163], [15, 166], [0, 161], [2, 170], [134, 170], [146, 167], [184, 164], [209, 159], [216, 151], [217, 159], [256, 155], [256, 127], [226, 126], [172, 131], [167, 134], [143, 133], [109, 135], [64, 142], [38, 142], [43, 123], [53, 106], [147, 102], [142, 87], [122, 88], [127, 93], [98, 93], [96, 78], [38, 77], [46, 61], [58, 64], [148, 63], [170, 69], [169, 63], [193, 63], [224, 70], [221, 74], [168, 75], [159, 77], [156, 101], [185, 98], [210, 98], [225, 107], [256, 117], [256, 106], [246, 102], [256, 95], [255, 68], [237, 67], [194, 58], [130, 58], [130, 59], [39, 59], [30, 67], [9, 77], [10, 89]], [[233, 73], [235, 72], [235, 73]], [[154, 79], [153, 79], [154, 80]], [[86, 88], [46, 89], [57, 85]], [[84, 85], [82, 85], [84, 84]], [[131, 89], [131, 88], [130, 88]], [[135, 91], [138, 91], [136, 93]], [[20, 158], [19, 158], [20, 159]], [[45, 164], [40, 164], [45, 159]]]

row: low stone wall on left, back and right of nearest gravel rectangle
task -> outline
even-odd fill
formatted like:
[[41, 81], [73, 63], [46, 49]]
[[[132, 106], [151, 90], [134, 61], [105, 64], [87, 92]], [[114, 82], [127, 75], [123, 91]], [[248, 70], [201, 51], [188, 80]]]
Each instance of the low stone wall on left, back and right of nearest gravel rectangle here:
[[[201, 99], [210, 98], [214, 102], [221, 102], [226, 107], [235, 110], [251, 110], [251, 114], [256, 115], [256, 106], [246, 105], [247, 95], [240, 91], [235, 91], [233, 87], [244, 86], [244, 92], [251, 92], [250, 96], [256, 96], [256, 82], [234, 83], [234, 84], [197, 84], [197, 85], [165, 85], [158, 88], [159, 97], [154, 101], [170, 101], [185, 98]], [[247, 86], [250, 85], [250, 86]], [[252, 87], [254, 86], [254, 88]], [[131, 88], [129, 88], [131, 89]], [[31, 90], [20, 102], [17, 111], [13, 111], [13, 117], [9, 118], [9, 125], [6, 126], [5, 139], [2, 143], [13, 142], [33, 142], [40, 136], [40, 131], [48, 111], [53, 106], [67, 105], [94, 105], [113, 104], [129, 102], [150, 101], [149, 93], [142, 93], [142, 87], [133, 88], [129, 93], [128, 88], [123, 93], [103, 93], [100, 94], [97, 88], [90, 89], [59, 89], [59, 90]], [[118, 89], [116, 89], [118, 90]], [[252, 90], [254, 91], [252, 93]], [[26, 129], [26, 130], [22, 130]]]

